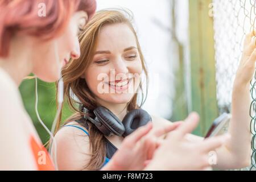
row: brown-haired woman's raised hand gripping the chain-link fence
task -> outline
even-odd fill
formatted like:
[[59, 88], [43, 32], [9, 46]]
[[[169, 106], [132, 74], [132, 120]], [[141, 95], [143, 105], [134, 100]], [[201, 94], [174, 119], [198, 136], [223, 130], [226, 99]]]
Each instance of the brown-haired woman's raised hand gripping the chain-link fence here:
[[234, 87], [241, 88], [249, 86], [255, 72], [256, 60], [256, 39], [255, 32], [246, 35], [244, 49], [240, 65], [238, 66]]

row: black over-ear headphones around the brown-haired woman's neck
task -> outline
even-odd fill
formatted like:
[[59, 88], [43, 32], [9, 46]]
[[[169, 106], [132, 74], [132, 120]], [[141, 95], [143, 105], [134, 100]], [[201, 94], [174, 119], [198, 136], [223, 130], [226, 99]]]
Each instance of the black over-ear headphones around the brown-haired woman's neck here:
[[84, 118], [92, 122], [106, 136], [127, 137], [138, 127], [152, 121], [150, 115], [143, 109], [129, 111], [122, 122], [104, 106], [99, 106], [93, 110], [94, 118], [86, 115], [88, 110], [84, 106], [80, 105], [80, 110], [85, 113]]

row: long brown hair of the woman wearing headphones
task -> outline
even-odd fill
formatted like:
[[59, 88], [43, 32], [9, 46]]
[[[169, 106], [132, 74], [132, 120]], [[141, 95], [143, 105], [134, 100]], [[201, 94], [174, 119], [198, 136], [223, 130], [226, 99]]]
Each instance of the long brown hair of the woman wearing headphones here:
[[[137, 40], [137, 47], [139, 56], [142, 61], [143, 72], [146, 75], [146, 82], [148, 82], [147, 69], [142, 55], [141, 47], [139, 46], [137, 34], [131, 23], [132, 15], [126, 10], [101, 10], [98, 11], [93, 18], [86, 24], [84, 31], [79, 36], [79, 42], [81, 47], [81, 56], [78, 60], [71, 60], [62, 70], [63, 82], [64, 82], [64, 99], [68, 102], [69, 107], [75, 114], [68, 119], [67, 122], [76, 121], [80, 119], [83, 121], [82, 125], [88, 126], [91, 159], [86, 169], [97, 170], [104, 164], [106, 156], [106, 139], [104, 135], [94, 126], [92, 123], [82, 119], [85, 113], [79, 110], [79, 105], [84, 105], [88, 110], [94, 110], [99, 105], [96, 101], [94, 94], [88, 88], [88, 85], [84, 78], [81, 76], [86, 72], [86, 69], [92, 62], [94, 52], [96, 51], [97, 36], [101, 27], [107, 24], [125, 23], [133, 31]], [[146, 100], [146, 94], [143, 94], [142, 82], [139, 84], [139, 90], [142, 92], [142, 98], [140, 104], [138, 101], [138, 92], [134, 94], [131, 101], [127, 104], [127, 110], [133, 110], [141, 107]], [[77, 97], [77, 101], [74, 97]], [[88, 114], [89, 115], [89, 114]], [[66, 122], [66, 123], [67, 123]], [[56, 125], [56, 130], [60, 129], [61, 115]]]

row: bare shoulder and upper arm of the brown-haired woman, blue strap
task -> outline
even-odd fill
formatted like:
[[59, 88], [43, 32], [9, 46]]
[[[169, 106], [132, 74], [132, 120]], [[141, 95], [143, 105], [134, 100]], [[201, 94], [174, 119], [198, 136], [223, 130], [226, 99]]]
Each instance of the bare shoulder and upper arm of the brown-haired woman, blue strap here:
[[[68, 126], [72, 125], [72, 126]], [[82, 170], [90, 161], [90, 140], [87, 131], [76, 122], [71, 122], [57, 131], [57, 164], [60, 170]]]

